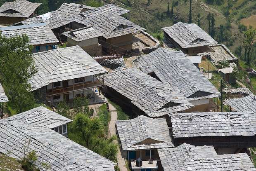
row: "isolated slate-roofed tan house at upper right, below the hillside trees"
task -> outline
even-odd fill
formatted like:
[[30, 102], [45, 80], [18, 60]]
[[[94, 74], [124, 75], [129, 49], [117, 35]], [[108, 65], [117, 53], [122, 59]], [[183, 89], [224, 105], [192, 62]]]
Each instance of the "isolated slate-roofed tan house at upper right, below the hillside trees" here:
[[185, 54], [212, 52], [211, 45], [218, 45], [218, 42], [194, 23], [178, 22], [171, 27], [164, 27], [162, 30], [164, 30], [166, 40]]

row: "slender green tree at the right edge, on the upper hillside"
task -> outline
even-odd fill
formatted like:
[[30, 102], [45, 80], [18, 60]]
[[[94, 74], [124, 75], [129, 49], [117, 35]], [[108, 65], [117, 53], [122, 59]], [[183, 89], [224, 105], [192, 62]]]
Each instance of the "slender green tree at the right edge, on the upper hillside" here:
[[244, 40], [242, 46], [244, 47], [244, 59], [247, 60], [247, 64], [251, 64], [251, 52], [254, 49], [254, 43], [256, 41], [256, 29], [250, 28], [244, 32]]

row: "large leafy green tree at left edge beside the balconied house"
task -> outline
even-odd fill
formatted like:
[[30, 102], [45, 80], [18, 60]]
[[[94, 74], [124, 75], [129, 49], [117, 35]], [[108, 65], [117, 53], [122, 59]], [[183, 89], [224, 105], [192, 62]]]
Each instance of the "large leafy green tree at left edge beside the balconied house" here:
[[26, 35], [7, 38], [0, 34], [0, 78], [9, 99], [7, 103], [16, 112], [33, 108], [35, 98], [29, 80], [36, 74], [32, 46]]

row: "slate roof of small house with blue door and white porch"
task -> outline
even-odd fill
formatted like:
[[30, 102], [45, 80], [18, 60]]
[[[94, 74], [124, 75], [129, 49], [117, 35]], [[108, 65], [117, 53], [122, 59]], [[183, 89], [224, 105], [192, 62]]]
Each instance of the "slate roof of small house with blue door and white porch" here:
[[[116, 121], [116, 129], [125, 151], [174, 147], [165, 118], [152, 119], [141, 115]], [[144, 143], [145, 140], [152, 143]]]

